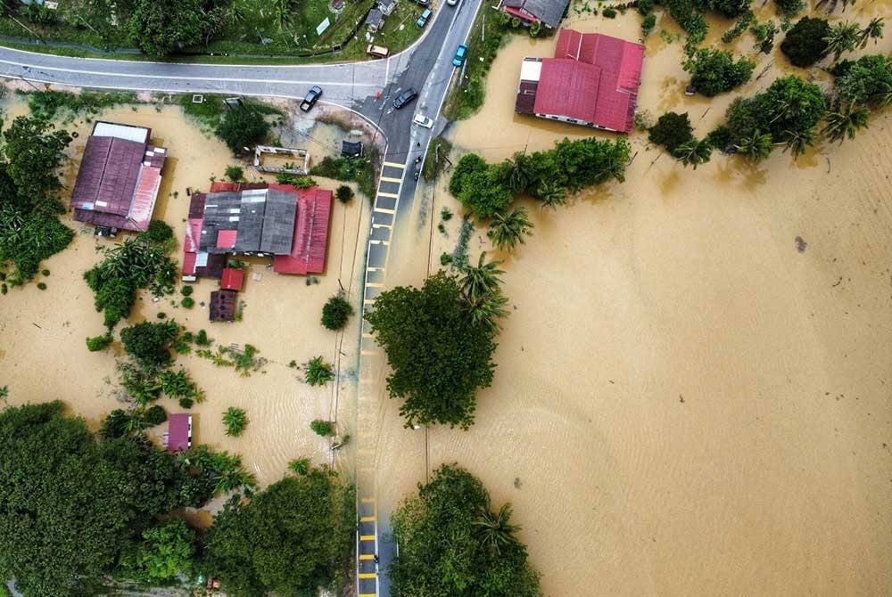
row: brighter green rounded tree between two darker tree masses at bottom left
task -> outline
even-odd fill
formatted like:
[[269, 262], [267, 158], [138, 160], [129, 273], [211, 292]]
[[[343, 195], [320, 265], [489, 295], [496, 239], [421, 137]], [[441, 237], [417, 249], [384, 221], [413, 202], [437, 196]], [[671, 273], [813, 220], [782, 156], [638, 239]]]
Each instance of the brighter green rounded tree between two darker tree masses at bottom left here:
[[132, 557], [124, 560], [125, 576], [147, 583], [188, 576], [193, 568], [195, 532], [181, 519], [152, 527], [143, 533]]

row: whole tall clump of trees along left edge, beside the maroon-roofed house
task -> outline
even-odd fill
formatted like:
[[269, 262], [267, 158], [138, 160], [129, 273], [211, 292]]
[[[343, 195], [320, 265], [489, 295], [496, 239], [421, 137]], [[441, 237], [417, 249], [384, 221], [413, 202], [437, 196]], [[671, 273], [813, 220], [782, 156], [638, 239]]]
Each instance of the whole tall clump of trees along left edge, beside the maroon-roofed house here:
[[[2, 123], [0, 123], [2, 127]], [[59, 168], [71, 142], [67, 131], [42, 119], [18, 117], [3, 133], [0, 162], [0, 269], [21, 286], [40, 270], [40, 262], [65, 249], [74, 233], [59, 221]], [[5, 287], [5, 284], [4, 284]]]

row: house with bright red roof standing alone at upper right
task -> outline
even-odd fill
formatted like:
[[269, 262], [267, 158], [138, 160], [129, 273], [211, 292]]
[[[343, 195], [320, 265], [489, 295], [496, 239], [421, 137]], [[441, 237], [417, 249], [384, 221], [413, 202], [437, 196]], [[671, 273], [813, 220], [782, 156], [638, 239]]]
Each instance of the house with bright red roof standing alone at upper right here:
[[561, 29], [554, 58], [524, 58], [515, 111], [628, 133], [643, 63], [644, 45]]

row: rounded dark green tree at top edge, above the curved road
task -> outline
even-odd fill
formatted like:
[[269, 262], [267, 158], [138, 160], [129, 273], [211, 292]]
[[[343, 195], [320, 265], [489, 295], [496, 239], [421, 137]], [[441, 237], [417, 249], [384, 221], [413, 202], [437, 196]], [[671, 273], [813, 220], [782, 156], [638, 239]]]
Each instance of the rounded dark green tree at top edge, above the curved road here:
[[140, 50], [161, 57], [205, 43], [222, 25], [226, 9], [204, 0], [134, 0], [127, 22], [129, 37]]

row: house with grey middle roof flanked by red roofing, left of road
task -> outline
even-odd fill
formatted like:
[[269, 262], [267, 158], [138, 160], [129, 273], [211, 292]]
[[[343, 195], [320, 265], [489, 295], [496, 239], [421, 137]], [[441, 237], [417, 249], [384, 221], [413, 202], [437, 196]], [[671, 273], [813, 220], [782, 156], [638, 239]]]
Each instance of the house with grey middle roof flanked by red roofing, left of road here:
[[183, 279], [221, 278], [229, 255], [272, 258], [279, 274], [321, 274], [331, 209], [332, 192], [315, 186], [213, 183], [192, 195]]

